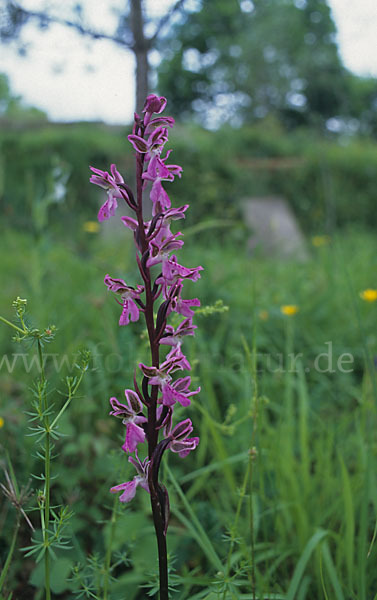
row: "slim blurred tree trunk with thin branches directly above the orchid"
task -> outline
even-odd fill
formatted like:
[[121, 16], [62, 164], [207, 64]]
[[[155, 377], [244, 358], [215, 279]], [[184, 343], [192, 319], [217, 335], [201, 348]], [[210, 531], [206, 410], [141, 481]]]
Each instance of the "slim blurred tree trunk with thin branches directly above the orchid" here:
[[[45, 2], [42, 9], [33, 10], [33, 3], [26, 6], [14, 0], [0, 0], [0, 41], [9, 42], [20, 39], [23, 27], [30, 21], [36, 22], [41, 29], [53, 23], [70, 27], [91, 39], [106, 39], [133, 52], [136, 62], [136, 110], [141, 110], [150, 91], [149, 52], [155, 47], [163, 29], [173, 15], [183, 6], [185, 0], [176, 0], [171, 8], [158, 19], [148, 19], [143, 0], [126, 0], [119, 8], [117, 3], [109, 3], [112, 12], [118, 15], [118, 25], [112, 31], [106, 31], [103, 23], [95, 20], [96, 11], [90, 10], [86, 2]], [[39, 2], [39, 6], [40, 6]], [[119, 3], [118, 3], [119, 4]], [[35, 3], [34, 3], [35, 5]], [[38, 5], [38, 3], [37, 3]], [[88, 14], [86, 14], [88, 13]], [[94, 16], [94, 18], [93, 18]], [[151, 27], [152, 26], [152, 27]], [[146, 30], [152, 30], [147, 35]], [[19, 51], [25, 53], [22, 44]], [[114, 74], [112, 75], [114, 76]]]

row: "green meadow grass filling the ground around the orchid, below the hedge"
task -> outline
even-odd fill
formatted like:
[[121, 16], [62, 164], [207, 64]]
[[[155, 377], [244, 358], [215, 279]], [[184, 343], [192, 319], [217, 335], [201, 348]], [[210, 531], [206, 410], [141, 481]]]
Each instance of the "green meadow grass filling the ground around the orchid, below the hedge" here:
[[[172, 598], [373, 600], [377, 302], [359, 292], [377, 287], [377, 242], [344, 232], [300, 263], [251, 257], [234, 236], [222, 235], [221, 244], [216, 237], [215, 228], [188, 232], [182, 258], [205, 268], [185, 290], [202, 302], [197, 335], [187, 341], [194, 384], [202, 387], [189, 409], [201, 441], [184, 461], [171, 455], [162, 467]], [[146, 598], [156, 577], [149, 498], [139, 490], [121, 506], [108, 493], [131, 473], [108, 398], [120, 398], [135, 365], [148, 358], [141, 324], [117, 326], [119, 307], [102, 283], [106, 273], [137, 282], [132, 241], [84, 233], [77, 241], [58, 234], [36, 241], [9, 231], [0, 251], [0, 314], [12, 320], [12, 300], [26, 297], [32, 323], [58, 327], [45, 348], [51, 402], [64, 401], [56, 390], [75, 353], [83, 346], [93, 353], [53, 462], [53, 500], [74, 511], [72, 548], [57, 556], [52, 573], [55, 597], [73, 597], [77, 581], [66, 580], [80, 563], [82, 582], [103, 598], [111, 557], [109, 598]], [[282, 305], [299, 310], [285, 316]], [[37, 371], [34, 349], [11, 337], [1, 326], [0, 448], [22, 485], [42, 468], [25, 415]], [[4, 356], [15, 360], [12, 373]], [[15, 521], [1, 499], [2, 563]], [[6, 587], [14, 600], [43, 597], [42, 566], [20, 550], [29, 539], [23, 524]]]

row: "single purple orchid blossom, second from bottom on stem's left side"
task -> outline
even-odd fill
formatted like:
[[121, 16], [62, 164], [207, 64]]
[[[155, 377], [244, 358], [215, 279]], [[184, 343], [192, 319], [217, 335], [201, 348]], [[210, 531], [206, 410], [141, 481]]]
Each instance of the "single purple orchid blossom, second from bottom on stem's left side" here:
[[138, 444], [145, 442], [145, 432], [140, 425], [147, 422], [147, 418], [140, 414], [143, 411], [143, 405], [139, 396], [133, 390], [125, 390], [126, 404], [119, 402], [117, 398], [110, 398], [112, 411], [110, 415], [122, 419], [126, 426], [126, 439], [122, 446], [125, 452], [134, 452]]

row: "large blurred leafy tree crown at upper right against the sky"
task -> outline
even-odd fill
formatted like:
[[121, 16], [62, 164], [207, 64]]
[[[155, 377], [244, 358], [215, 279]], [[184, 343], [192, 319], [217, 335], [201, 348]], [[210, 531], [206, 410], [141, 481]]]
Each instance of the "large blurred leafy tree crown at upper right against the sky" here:
[[159, 89], [175, 112], [215, 126], [267, 114], [288, 127], [358, 118], [367, 92], [343, 67], [335, 34], [326, 0], [196, 0], [160, 40]]

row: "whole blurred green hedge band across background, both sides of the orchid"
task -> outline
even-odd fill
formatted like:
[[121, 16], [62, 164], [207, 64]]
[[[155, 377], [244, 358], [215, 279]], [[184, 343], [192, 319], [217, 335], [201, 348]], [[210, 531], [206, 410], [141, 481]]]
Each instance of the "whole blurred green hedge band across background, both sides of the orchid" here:
[[[80, 235], [103, 201], [101, 191], [88, 185], [88, 164], [109, 169], [114, 161], [121, 172], [132, 172], [125, 133], [95, 124], [48, 124], [17, 135], [5, 130], [0, 134], [5, 220], [33, 231], [36, 239], [46, 238], [49, 223]], [[376, 225], [377, 146], [371, 141], [339, 144], [304, 130], [287, 134], [274, 119], [216, 132], [186, 125], [172, 136], [174, 161], [185, 165], [174, 199], [191, 205], [186, 235], [206, 231], [239, 238], [242, 201], [264, 195], [286, 197], [307, 232]]]

